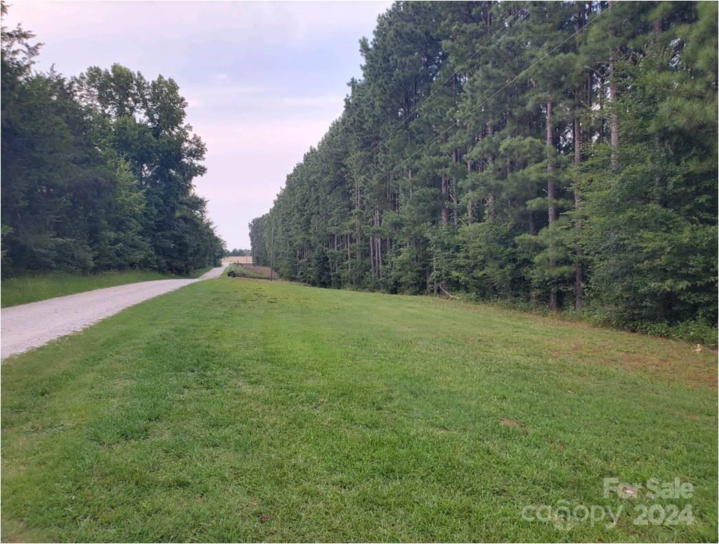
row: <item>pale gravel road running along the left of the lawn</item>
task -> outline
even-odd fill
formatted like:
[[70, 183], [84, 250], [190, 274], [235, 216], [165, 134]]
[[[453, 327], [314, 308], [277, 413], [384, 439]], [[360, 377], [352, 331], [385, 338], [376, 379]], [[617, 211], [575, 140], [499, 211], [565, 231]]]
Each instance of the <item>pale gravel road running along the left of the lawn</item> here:
[[196, 279], [140, 281], [4, 308], [0, 312], [0, 358], [82, 330], [153, 296], [217, 278], [223, 270], [224, 266], [219, 266]]

